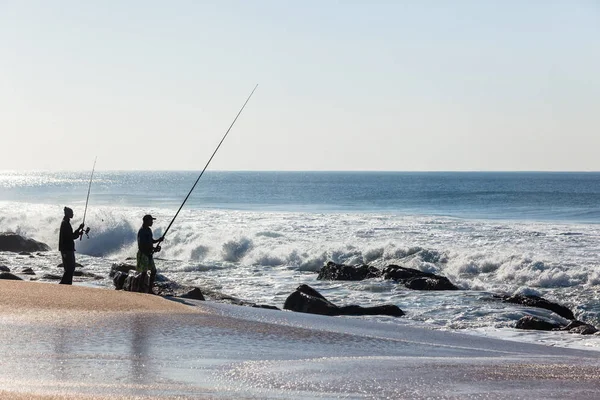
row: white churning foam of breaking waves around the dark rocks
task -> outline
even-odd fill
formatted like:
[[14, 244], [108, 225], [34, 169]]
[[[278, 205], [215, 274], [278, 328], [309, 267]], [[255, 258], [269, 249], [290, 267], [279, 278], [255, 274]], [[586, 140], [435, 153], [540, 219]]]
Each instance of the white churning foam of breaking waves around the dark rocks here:
[[[92, 272], [107, 275], [112, 262], [135, 256], [136, 233], [144, 214], [158, 218], [153, 228], [159, 237], [174, 211], [94, 207], [86, 217], [90, 239], [76, 242], [78, 261]], [[75, 210], [74, 226], [80, 212]], [[0, 215], [0, 231], [19, 232], [56, 250], [62, 207], [2, 202]], [[565, 234], [569, 232], [577, 235]], [[521, 316], [540, 311], [502, 304], [492, 294], [523, 293], [564, 303], [578, 317], [600, 325], [600, 313], [590, 303], [600, 286], [599, 236], [595, 225], [184, 210], [169, 231], [157, 264], [161, 273], [174, 280], [279, 307], [297, 285], [307, 283], [340, 305], [397, 304], [415, 323], [446, 329], [505, 329]], [[434, 272], [466, 291], [414, 292], [381, 279], [317, 281], [315, 272], [330, 260], [377, 267], [398, 264]], [[10, 254], [0, 261], [54, 273], [59, 262], [57, 255], [26, 259]], [[108, 278], [97, 284], [111, 286]], [[540, 315], [557, 318], [545, 311]]]

